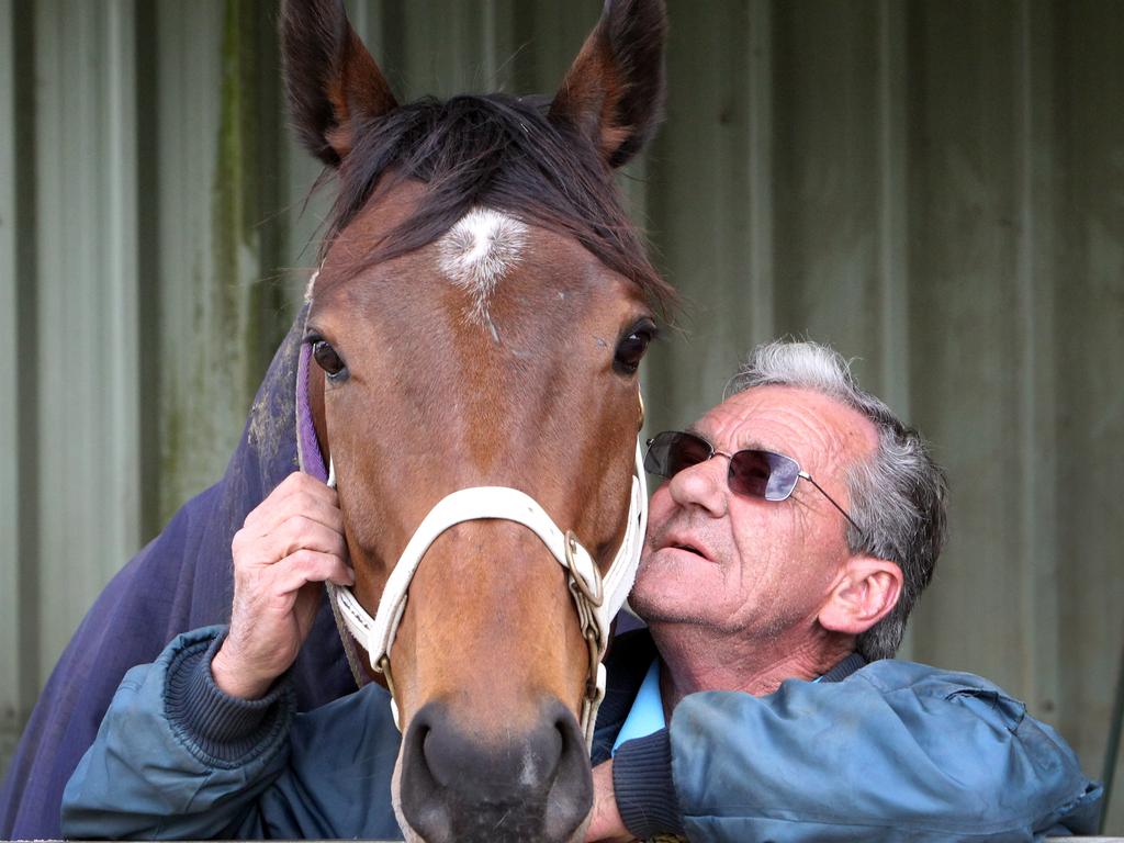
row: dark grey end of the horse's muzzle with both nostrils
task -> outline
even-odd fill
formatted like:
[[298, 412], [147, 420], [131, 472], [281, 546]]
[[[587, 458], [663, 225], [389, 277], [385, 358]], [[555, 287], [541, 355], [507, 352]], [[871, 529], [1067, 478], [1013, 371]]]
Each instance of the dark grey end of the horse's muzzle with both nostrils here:
[[592, 804], [578, 723], [561, 703], [544, 705], [528, 729], [479, 741], [438, 704], [407, 729], [401, 769], [405, 818], [427, 843], [569, 840]]

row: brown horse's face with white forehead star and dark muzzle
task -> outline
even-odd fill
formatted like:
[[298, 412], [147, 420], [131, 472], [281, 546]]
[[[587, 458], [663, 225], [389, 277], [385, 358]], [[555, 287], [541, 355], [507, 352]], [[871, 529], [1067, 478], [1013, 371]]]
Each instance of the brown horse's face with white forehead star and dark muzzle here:
[[[477, 486], [531, 495], [604, 571], [628, 511], [651, 312], [577, 243], [491, 210], [350, 269], [348, 243], [410, 207], [406, 191], [345, 232], [308, 324], [356, 596], [373, 615], [430, 508]], [[591, 794], [577, 723], [588, 650], [562, 568], [522, 525], [469, 522], [430, 546], [408, 595], [390, 653], [404, 830], [575, 834]]]

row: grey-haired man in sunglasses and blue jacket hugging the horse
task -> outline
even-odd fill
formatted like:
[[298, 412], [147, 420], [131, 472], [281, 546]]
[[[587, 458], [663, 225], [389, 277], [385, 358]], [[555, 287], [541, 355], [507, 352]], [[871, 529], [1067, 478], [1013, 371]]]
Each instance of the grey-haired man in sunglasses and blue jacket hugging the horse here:
[[[977, 677], [890, 659], [944, 538], [944, 480], [918, 435], [822, 346], [759, 347], [734, 386], [649, 450], [668, 478], [632, 596], [649, 629], [610, 653], [589, 839], [1090, 831], [1100, 789], [1049, 726]], [[296, 483], [251, 517], [282, 523]], [[334, 495], [305, 492], [325, 524], [312, 579], [345, 581]], [[285, 608], [271, 625], [247, 588], [269, 547], [236, 547], [232, 637], [184, 636], [123, 683], [67, 787], [69, 836], [395, 836], [389, 718], [344, 700], [290, 727], [274, 680], [301, 624]], [[319, 774], [302, 769], [318, 758]], [[191, 799], [167, 798], [189, 783]]]

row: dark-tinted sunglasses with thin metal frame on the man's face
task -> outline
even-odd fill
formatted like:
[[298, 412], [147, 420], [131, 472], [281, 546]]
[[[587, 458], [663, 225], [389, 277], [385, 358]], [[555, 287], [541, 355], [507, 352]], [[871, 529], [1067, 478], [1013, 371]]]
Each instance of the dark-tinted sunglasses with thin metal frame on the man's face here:
[[774, 454], [772, 451], [747, 447], [726, 454], [716, 451], [714, 445], [696, 436], [694, 433], [681, 430], [668, 430], [658, 434], [647, 441], [647, 454], [644, 456], [644, 469], [650, 474], [667, 478], [670, 480], [683, 469], [698, 465], [700, 462], [715, 456], [725, 456], [729, 460], [729, 472], [726, 482], [729, 490], [735, 495], [744, 495], [747, 498], [763, 498], [765, 500], [788, 500], [796, 489], [798, 480], [807, 480], [819, 490], [819, 493], [831, 501], [831, 505], [842, 513], [851, 526], [859, 531], [859, 535], [865, 541], [862, 528], [854, 523], [854, 518], [835, 502], [824, 488], [812, 479], [812, 474], [800, 470], [799, 463], [791, 456]]

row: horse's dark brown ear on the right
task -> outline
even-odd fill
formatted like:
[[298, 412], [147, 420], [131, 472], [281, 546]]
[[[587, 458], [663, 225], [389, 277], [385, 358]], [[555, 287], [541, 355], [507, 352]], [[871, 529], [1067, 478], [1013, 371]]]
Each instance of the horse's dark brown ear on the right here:
[[667, 35], [663, 0], [605, 0], [597, 28], [554, 96], [551, 119], [581, 132], [609, 166], [640, 152], [663, 117]]

